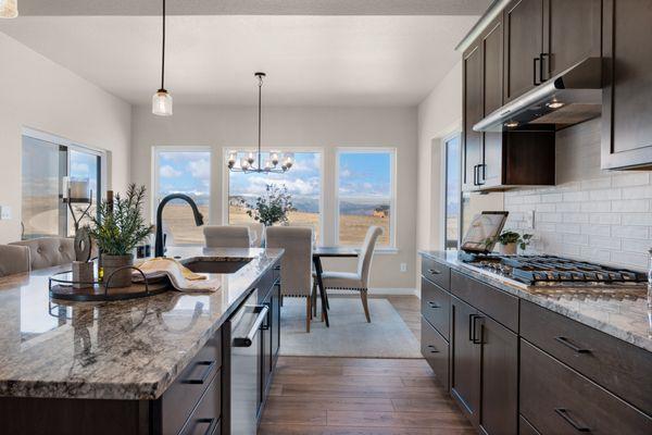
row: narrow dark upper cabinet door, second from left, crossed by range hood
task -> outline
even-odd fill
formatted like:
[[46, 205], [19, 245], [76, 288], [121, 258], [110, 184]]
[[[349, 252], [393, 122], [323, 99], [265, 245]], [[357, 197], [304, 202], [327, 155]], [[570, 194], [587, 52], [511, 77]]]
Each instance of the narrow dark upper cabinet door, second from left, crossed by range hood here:
[[[503, 24], [502, 16], [489, 25], [481, 36], [484, 116], [500, 109], [503, 102]], [[503, 182], [502, 134], [484, 133], [482, 162], [478, 169], [482, 187], [499, 186]]]

